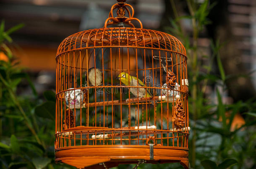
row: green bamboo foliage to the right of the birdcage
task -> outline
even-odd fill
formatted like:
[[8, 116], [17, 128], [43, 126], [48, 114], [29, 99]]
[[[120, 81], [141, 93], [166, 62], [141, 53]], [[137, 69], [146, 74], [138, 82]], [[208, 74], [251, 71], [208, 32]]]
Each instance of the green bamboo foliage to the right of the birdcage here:
[[[172, 9], [175, 3], [172, 1]], [[211, 22], [207, 19], [209, 10], [215, 5], [208, 0], [198, 3], [196, 0], [187, 0], [190, 15], [171, 20], [172, 28], [166, 28], [175, 34], [185, 45], [188, 53], [188, 76], [190, 80], [190, 132], [189, 155], [191, 168], [255, 168], [255, 98], [248, 101], [225, 104], [223, 93], [226, 91], [225, 83], [232, 78], [226, 75], [221, 62], [219, 49], [225, 44], [212, 41], [212, 55], [204, 55], [198, 46], [198, 38], [205, 26]], [[177, 10], [173, 10], [177, 11]], [[182, 21], [192, 23], [192, 40], [180, 26]], [[190, 43], [192, 41], [192, 43]], [[202, 61], [200, 58], [204, 58]], [[217, 63], [219, 74], [214, 73], [214, 63]], [[206, 66], [207, 64], [207, 66]], [[215, 88], [215, 95], [206, 96], [206, 86]], [[214, 103], [214, 98], [217, 102]], [[242, 114], [245, 124], [232, 126], [235, 116]], [[252, 150], [253, 149], [253, 150]], [[230, 159], [231, 158], [231, 159]], [[202, 161], [203, 160], [203, 161]], [[201, 162], [200, 162], [201, 161]], [[219, 165], [217, 165], [219, 164]]]

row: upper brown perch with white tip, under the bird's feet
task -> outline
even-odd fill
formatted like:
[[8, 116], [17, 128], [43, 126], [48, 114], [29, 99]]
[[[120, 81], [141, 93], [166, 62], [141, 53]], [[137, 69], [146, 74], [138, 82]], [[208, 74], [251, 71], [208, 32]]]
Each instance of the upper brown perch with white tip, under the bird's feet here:
[[101, 101], [96, 103], [84, 103], [84, 108], [86, 107], [95, 107], [95, 106], [109, 106], [109, 105], [120, 105], [122, 104], [128, 104], [128, 103], [138, 103], [138, 102], [146, 102], [146, 101], [175, 101], [177, 98], [180, 98], [179, 95], [174, 96], [154, 96], [149, 98], [130, 98], [126, 100], [114, 100], [114, 101]]

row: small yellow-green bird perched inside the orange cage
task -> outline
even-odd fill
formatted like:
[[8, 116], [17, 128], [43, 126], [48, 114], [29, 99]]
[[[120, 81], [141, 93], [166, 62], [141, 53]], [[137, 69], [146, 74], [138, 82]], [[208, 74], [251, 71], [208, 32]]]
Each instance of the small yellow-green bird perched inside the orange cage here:
[[[128, 73], [122, 72], [118, 75], [118, 78], [126, 86], [145, 86], [145, 84], [138, 78], [130, 76]], [[130, 85], [129, 85], [130, 82]], [[131, 93], [136, 97], [152, 97], [152, 94], [145, 88], [130, 88]], [[154, 101], [151, 100], [151, 103], [154, 105]]]

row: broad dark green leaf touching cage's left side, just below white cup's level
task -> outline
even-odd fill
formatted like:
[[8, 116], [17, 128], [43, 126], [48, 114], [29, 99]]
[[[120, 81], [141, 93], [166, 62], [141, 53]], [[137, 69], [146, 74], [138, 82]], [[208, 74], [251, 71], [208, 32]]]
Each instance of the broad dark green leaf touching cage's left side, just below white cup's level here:
[[46, 119], [55, 119], [55, 102], [47, 101], [35, 108], [35, 114]]

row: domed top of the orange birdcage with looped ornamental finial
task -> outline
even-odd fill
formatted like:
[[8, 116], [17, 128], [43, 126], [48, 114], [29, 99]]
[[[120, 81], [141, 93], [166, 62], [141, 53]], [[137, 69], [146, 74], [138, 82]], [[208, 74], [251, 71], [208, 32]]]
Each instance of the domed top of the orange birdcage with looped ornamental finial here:
[[[159, 48], [159, 50], [170, 50], [186, 56], [183, 44], [174, 36], [157, 31], [144, 29], [142, 23], [137, 18], [133, 18], [133, 7], [126, 0], [118, 0], [110, 10], [109, 18], [106, 19], [103, 28], [84, 30], [68, 36], [60, 43], [57, 55], [83, 48], [101, 48], [107, 46], [122, 47], [148, 47]], [[131, 11], [129, 10], [131, 8]], [[114, 17], [113, 10], [117, 9], [117, 16]], [[128, 13], [128, 17], [125, 13]], [[135, 28], [131, 21], [137, 21], [141, 28]], [[113, 28], [107, 28], [114, 25]], [[127, 26], [127, 27], [126, 27]]]

